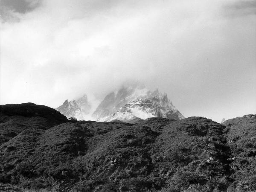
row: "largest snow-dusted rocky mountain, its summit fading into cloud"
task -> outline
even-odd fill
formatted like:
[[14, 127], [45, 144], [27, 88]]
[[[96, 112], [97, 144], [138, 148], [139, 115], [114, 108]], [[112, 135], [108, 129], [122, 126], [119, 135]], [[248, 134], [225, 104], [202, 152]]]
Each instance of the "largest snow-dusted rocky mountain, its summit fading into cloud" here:
[[132, 84], [108, 94], [93, 113], [97, 121], [123, 122], [132, 119], [147, 119], [149, 117], [164, 117], [168, 119], [184, 119], [175, 108], [167, 94], [158, 89], [150, 91], [143, 85]]

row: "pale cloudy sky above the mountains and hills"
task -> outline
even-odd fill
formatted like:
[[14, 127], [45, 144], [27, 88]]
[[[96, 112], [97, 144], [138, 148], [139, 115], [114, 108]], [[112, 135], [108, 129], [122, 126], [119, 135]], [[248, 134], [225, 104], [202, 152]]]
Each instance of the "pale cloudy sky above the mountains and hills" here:
[[256, 113], [256, 0], [0, 0], [0, 104], [99, 103], [129, 79], [184, 116]]

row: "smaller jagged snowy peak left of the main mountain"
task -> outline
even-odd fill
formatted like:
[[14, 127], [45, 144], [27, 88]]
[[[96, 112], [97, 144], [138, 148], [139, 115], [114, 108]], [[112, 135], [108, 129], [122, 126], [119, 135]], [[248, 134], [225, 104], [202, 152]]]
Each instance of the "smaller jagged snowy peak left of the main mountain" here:
[[79, 99], [71, 100], [70, 102], [66, 100], [63, 105], [56, 108], [61, 114], [70, 117], [75, 117], [76, 119], [84, 120], [84, 117], [90, 113], [91, 106], [88, 103], [87, 96], [84, 95]]

